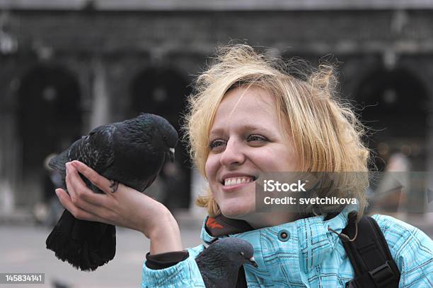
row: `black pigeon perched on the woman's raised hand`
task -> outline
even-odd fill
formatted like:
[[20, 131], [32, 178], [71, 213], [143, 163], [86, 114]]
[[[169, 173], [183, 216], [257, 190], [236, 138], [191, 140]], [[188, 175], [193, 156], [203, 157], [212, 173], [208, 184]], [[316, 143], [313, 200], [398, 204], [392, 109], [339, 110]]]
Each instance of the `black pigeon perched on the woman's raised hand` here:
[[[66, 188], [67, 162], [79, 160], [112, 181], [143, 192], [161, 171], [166, 156], [173, 162], [178, 133], [166, 119], [154, 114], [94, 128], [50, 161]], [[81, 176], [81, 174], [80, 174]], [[95, 193], [103, 193], [81, 176]], [[110, 224], [77, 220], [64, 210], [48, 236], [47, 249], [80, 270], [96, 270], [115, 256], [116, 230]]]

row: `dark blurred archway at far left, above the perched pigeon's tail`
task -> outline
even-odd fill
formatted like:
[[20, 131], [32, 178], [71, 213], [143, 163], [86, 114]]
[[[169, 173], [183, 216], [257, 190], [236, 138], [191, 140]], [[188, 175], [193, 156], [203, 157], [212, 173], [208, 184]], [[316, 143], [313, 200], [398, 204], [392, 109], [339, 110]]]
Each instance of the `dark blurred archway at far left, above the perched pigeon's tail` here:
[[56, 64], [37, 64], [21, 78], [16, 91], [16, 135], [23, 173], [18, 203], [38, 200], [35, 193], [30, 199], [21, 193], [40, 190], [47, 155], [61, 152], [81, 135], [80, 94], [76, 77]]

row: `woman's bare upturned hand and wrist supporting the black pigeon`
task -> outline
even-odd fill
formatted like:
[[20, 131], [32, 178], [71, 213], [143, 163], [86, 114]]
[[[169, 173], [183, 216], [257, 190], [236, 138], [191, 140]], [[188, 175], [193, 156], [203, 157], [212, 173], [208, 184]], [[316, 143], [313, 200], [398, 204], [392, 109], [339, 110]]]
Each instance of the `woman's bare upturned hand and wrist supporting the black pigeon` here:
[[[66, 167], [69, 194], [61, 188], [56, 194], [74, 217], [142, 232], [151, 240], [151, 254], [182, 250], [178, 223], [166, 206], [123, 184], [112, 193], [110, 180], [79, 161]], [[93, 193], [79, 172], [104, 193]]]

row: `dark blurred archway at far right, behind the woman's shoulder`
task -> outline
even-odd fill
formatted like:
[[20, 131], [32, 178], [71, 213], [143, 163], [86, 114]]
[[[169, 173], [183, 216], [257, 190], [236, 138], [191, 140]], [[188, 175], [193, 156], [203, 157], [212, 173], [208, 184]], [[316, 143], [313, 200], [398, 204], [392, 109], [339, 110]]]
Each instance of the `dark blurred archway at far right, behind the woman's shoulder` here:
[[359, 82], [357, 102], [362, 104], [362, 121], [374, 131], [369, 147], [378, 157], [379, 170], [394, 152], [403, 152], [411, 169], [427, 168], [428, 91], [410, 69], [376, 67]]

